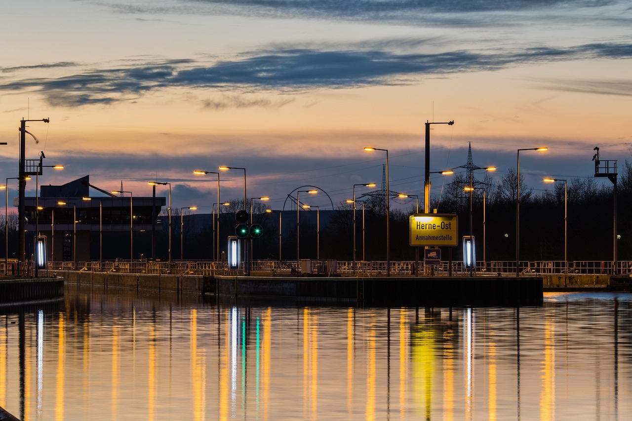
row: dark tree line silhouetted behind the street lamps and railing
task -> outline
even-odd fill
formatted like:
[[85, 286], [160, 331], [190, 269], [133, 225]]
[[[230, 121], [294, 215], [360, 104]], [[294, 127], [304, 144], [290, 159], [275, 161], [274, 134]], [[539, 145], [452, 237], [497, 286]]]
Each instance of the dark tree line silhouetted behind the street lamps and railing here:
[[[438, 213], [455, 213], [459, 220], [459, 236], [470, 235], [470, 200], [472, 234], [477, 243], [477, 260], [483, 260], [483, 216], [485, 219], [485, 259], [514, 260], [516, 244], [516, 195], [517, 177], [509, 169], [500, 181], [494, 182], [485, 174], [482, 181], [472, 182], [474, 190], [465, 191], [470, 185], [468, 174], [454, 174], [439, 197], [433, 197], [430, 209]], [[567, 227], [568, 260], [604, 260], [613, 258], [613, 192], [614, 185], [607, 180], [593, 177], [569, 178]], [[484, 200], [483, 200], [484, 196]], [[362, 207], [356, 204], [356, 260], [386, 260], [386, 198], [372, 195], [364, 201], [365, 231], [362, 231]], [[243, 199], [229, 201], [222, 207], [220, 215], [220, 251], [226, 251], [228, 236], [234, 235], [234, 213], [245, 209]], [[247, 208], [250, 202], [246, 199]], [[617, 248], [619, 260], [630, 260], [632, 253], [632, 220], [629, 209], [632, 205], [632, 164], [625, 161], [619, 167], [617, 178]], [[253, 259], [279, 259], [278, 214], [267, 214], [263, 202], [253, 202], [253, 223], [264, 227], [265, 235], [253, 240]], [[420, 209], [423, 209], [420, 203]], [[322, 211], [321, 211], [322, 212]], [[320, 224], [319, 251], [317, 252], [317, 227], [311, 219], [300, 224], [301, 258], [353, 260], [353, 204], [341, 202], [329, 211], [326, 223]], [[192, 213], [192, 212], [191, 212]], [[415, 248], [409, 243], [410, 215], [415, 213], [415, 204], [409, 209], [390, 212], [391, 260], [414, 260]], [[134, 233], [135, 259], [152, 257], [167, 259], [169, 255], [169, 229], [166, 210], [159, 215], [162, 229], [155, 233], [152, 250], [151, 233]], [[313, 218], [312, 218], [313, 219]], [[189, 217], [185, 214], [185, 221]], [[15, 258], [17, 247], [17, 216], [8, 215], [9, 259]], [[186, 260], [209, 260], [216, 255], [216, 235], [211, 218], [202, 224], [180, 224], [180, 215], [172, 214], [171, 255], [181, 256], [180, 240], [184, 245]], [[181, 228], [183, 231], [181, 231]], [[5, 236], [4, 224], [0, 233]], [[92, 233], [91, 257], [99, 259], [99, 233]], [[181, 237], [182, 236], [182, 237]], [[364, 236], [364, 240], [363, 240]], [[121, 247], [129, 240], [129, 233], [104, 232], [103, 256], [106, 260], [117, 257], [128, 259], [128, 248]], [[452, 252], [453, 259], [461, 259], [459, 247], [449, 250], [442, 247], [442, 258]], [[0, 241], [0, 253], [4, 256], [4, 241]], [[421, 255], [423, 258], [423, 254]], [[281, 259], [296, 259], [296, 225], [283, 224]], [[521, 260], [564, 260], [564, 183], [557, 182], [551, 190], [536, 190], [520, 180], [520, 259]]]

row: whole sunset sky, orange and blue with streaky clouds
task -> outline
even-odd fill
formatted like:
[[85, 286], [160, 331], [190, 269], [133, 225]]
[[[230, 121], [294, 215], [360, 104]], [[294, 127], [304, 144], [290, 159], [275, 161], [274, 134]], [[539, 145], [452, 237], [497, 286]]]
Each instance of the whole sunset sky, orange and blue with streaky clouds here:
[[[246, 173], [272, 209], [305, 188], [331, 209], [379, 187], [386, 152], [366, 146], [422, 206], [427, 121], [454, 120], [431, 125], [430, 171], [465, 165], [471, 144], [499, 181], [518, 149], [549, 147], [520, 152], [536, 191], [593, 178], [596, 146], [632, 159], [629, 1], [23, 0], [0, 6], [0, 35], [0, 180], [17, 176], [23, 118], [50, 119], [28, 123], [27, 159], [64, 165], [40, 185], [89, 175], [140, 197], [168, 182], [174, 209], [209, 213], [217, 176], [194, 169], [245, 168], [221, 171], [222, 202]], [[432, 174], [432, 196], [446, 183]]]

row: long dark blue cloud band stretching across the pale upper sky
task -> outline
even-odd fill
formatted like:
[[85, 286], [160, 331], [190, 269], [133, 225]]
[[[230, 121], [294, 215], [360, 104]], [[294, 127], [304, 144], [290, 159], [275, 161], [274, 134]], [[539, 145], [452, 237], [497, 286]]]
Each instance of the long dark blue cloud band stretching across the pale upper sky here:
[[[91, 70], [61, 78], [31, 78], [0, 84], [4, 91], [34, 91], [57, 106], [83, 106], [130, 101], [168, 88], [214, 89], [221, 92], [307, 92], [416, 83], [424, 77], [494, 71], [556, 61], [629, 59], [632, 44], [601, 43], [580, 46], [533, 47], [506, 51], [446, 51], [397, 53], [374, 50], [264, 49], [245, 58], [208, 66], [192, 60], [134, 61], [118, 68]], [[232, 95], [204, 106], [283, 106], [284, 102], [243, 100]]]

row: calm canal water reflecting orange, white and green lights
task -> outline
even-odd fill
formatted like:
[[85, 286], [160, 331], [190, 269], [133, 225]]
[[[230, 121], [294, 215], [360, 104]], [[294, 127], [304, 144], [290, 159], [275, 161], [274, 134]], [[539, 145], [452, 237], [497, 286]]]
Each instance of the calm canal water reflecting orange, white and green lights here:
[[632, 295], [541, 308], [216, 305], [71, 290], [0, 315], [28, 420], [628, 420]]

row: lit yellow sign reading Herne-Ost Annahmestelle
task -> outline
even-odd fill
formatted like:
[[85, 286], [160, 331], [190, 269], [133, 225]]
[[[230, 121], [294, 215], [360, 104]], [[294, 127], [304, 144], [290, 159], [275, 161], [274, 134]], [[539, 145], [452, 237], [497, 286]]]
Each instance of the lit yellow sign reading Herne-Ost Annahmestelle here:
[[458, 221], [454, 214], [413, 214], [410, 216], [410, 245], [456, 246]]

